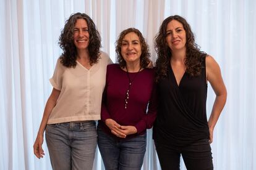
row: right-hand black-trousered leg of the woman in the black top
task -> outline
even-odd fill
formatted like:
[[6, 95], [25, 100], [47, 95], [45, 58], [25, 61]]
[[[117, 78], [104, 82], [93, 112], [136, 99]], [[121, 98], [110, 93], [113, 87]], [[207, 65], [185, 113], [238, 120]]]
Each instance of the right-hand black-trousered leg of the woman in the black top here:
[[188, 170], [213, 170], [211, 147], [208, 139], [199, 140], [182, 148], [182, 157]]

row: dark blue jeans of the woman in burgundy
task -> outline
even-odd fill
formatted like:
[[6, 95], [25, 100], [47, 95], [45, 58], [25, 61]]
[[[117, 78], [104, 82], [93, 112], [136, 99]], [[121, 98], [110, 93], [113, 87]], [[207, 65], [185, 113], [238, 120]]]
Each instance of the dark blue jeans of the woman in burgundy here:
[[131, 139], [115, 139], [98, 129], [98, 147], [106, 170], [140, 170], [146, 152], [147, 133]]

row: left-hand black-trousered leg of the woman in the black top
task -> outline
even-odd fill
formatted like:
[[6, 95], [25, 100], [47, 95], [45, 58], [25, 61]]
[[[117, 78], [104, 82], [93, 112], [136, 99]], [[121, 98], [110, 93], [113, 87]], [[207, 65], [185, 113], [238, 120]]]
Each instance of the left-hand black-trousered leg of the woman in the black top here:
[[178, 148], [171, 145], [160, 144], [155, 142], [156, 153], [160, 162], [162, 170], [179, 170], [179, 164], [181, 161], [181, 153]]

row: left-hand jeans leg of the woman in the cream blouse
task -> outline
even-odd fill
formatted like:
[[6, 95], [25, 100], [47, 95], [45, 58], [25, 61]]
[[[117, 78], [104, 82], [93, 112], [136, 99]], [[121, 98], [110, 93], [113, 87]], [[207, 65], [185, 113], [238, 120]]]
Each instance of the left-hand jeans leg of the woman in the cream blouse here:
[[48, 124], [45, 137], [53, 169], [70, 170], [71, 149], [67, 129], [61, 124]]

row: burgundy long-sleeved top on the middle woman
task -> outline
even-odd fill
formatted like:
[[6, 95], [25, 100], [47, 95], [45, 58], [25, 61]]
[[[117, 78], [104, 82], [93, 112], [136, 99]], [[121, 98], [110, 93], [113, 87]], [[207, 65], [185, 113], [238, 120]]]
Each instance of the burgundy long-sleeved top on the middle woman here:
[[130, 137], [143, 134], [146, 129], [150, 129], [156, 118], [155, 71], [145, 68], [138, 73], [128, 74], [132, 84], [125, 108], [126, 92], [129, 88], [127, 72], [117, 64], [107, 67], [99, 126], [111, 136], [114, 135], [105, 124], [105, 120], [108, 118], [114, 119], [121, 126], [135, 126], [137, 134]]

